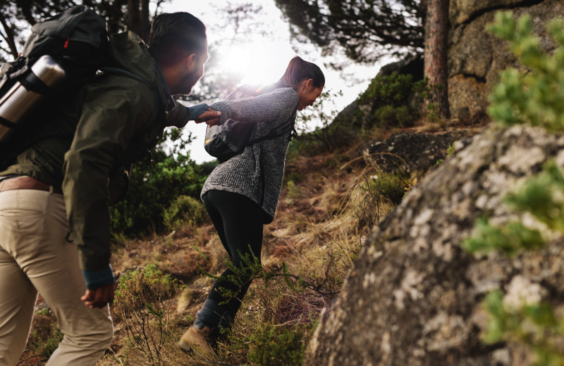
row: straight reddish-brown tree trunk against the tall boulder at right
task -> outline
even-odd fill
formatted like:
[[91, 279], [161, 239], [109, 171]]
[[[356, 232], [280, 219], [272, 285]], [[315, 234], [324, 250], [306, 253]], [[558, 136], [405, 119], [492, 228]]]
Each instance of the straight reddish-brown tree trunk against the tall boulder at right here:
[[431, 96], [439, 118], [448, 118], [448, 3], [449, 0], [426, 0], [425, 77], [429, 78]]

